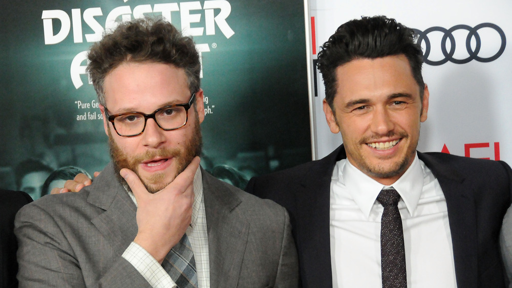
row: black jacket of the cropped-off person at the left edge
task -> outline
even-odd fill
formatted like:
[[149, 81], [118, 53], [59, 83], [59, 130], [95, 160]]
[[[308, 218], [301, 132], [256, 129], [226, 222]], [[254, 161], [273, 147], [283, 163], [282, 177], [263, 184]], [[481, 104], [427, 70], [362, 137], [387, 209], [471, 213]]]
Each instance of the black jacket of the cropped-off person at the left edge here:
[[18, 286], [14, 216], [19, 208], [30, 202], [32, 198], [25, 192], [0, 190], [0, 288]]

